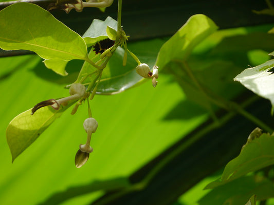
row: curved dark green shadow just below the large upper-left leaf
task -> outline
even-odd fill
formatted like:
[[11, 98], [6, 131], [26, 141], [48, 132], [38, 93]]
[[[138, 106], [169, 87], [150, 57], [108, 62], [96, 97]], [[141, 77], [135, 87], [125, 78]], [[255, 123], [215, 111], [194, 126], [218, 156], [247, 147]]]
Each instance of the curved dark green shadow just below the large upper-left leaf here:
[[66, 66], [66, 71], [68, 72], [67, 76], [61, 76], [54, 71], [46, 68], [44, 63], [42, 61], [32, 69], [32, 72], [37, 77], [40, 77], [44, 80], [50, 81], [52, 83], [56, 83], [59, 85], [67, 85], [74, 83], [74, 81], [77, 79], [78, 73], [83, 65], [83, 60], [71, 60], [68, 62]]

